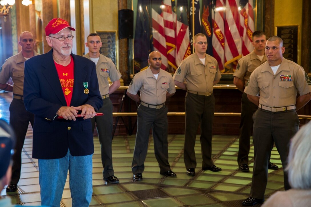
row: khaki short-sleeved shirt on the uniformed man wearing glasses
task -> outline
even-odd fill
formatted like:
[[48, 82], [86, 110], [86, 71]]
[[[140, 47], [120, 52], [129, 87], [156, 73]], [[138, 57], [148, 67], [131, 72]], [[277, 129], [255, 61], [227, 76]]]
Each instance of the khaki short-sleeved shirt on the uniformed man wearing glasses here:
[[196, 53], [184, 59], [175, 71], [173, 79], [185, 82], [188, 90], [196, 92], [212, 92], [213, 82], [221, 77], [218, 62], [212, 56], [205, 54], [205, 64], [201, 62]]

